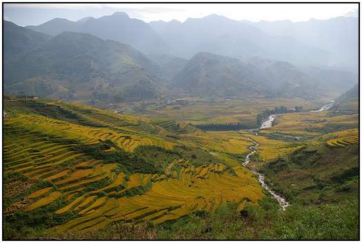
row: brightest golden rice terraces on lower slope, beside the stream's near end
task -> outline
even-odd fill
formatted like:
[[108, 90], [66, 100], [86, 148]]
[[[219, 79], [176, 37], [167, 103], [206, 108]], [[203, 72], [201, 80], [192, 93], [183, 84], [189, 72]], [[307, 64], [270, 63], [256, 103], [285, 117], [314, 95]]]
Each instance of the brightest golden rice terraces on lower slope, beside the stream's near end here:
[[[118, 193], [110, 191], [108, 199], [99, 196], [88, 196], [92, 192], [75, 198], [66, 207], [56, 213], [72, 210], [80, 218], [57, 226], [54, 230], [92, 231], [101, 229], [112, 222], [139, 222], [152, 220], [157, 224], [176, 220], [192, 211], [217, 209], [219, 204], [228, 201], [257, 204], [263, 192], [256, 178], [250, 171], [238, 166], [234, 168], [237, 176], [223, 173], [225, 166], [212, 164], [202, 167], [185, 167], [181, 169], [179, 178], [159, 179], [159, 176], [132, 175], [125, 189]], [[144, 178], [152, 178], [152, 187], [138, 196], [118, 197], [122, 192], [134, 187], [141, 187]], [[106, 187], [115, 189], [115, 187]], [[245, 207], [246, 204], [243, 204]], [[241, 207], [242, 209], [242, 207]]]

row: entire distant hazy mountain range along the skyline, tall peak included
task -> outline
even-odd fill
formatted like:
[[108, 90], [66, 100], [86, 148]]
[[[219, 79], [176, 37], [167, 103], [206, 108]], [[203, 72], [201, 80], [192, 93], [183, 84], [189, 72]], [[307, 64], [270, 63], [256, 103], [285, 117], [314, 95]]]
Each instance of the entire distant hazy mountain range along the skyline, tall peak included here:
[[[334, 67], [357, 72], [358, 18], [328, 20], [235, 21], [217, 14], [185, 22], [145, 23], [115, 12], [98, 19], [52, 19], [26, 28], [55, 36], [64, 31], [85, 32], [112, 39], [145, 54], [172, 54], [191, 59], [197, 52], [211, 52], [237, 59], [262, 56], [294, 65]], [[116, 31], [117, 30], [117, 31]]]

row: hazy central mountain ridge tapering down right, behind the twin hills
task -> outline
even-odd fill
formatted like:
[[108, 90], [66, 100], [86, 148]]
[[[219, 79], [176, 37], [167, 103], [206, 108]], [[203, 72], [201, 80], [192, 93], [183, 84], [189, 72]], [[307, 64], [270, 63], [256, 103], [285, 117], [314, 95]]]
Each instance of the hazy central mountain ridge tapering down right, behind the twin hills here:
[[151, 22], [166, 43], [172, 43], [177, 55], [190, 58], [196, 52], [212, 52], [237, 59], [263, 56], [268, 59], [305, 64], [325, 63], [328, 52], [303, 45], [288, 36], [273, 36], [248, 23], [212, 14], [184, 23]]

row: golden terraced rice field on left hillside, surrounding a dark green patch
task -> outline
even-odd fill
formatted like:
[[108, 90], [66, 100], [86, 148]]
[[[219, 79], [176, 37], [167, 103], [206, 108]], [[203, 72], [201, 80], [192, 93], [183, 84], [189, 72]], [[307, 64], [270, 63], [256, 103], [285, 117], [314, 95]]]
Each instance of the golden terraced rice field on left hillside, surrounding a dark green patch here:
[[[230, 201], [239, 203], [241, 210], [264, 197], [257, 179], [230, 155], [245, 154], [252, 145], [236, 132], [197, 134], [197, 129], [182, 124], [181, 131], [192, 133], [168, 138], [164, 134], [174, 133], [177, 127], [170, 125], [174, 123], [161, 127], [80, 105], [46, 105], [72, 115], [57, 119], [8, 110], [12, 115], [4, 120], [3, 168], [6, 176], [20, 174], [37, 185], [22, 196], [24, 202], [15, 198], [10, 207], [20, 205], [17, 209], [23, 213], [47, 209], [54, 217], [74, 215], [52, 230], [94, 231], [113, 222], [161, 224], [194, 211], [213, 211]], [[202, 147], [217, 162], [195, 166], [181, 159], [159, 173], [132, 172], [119, 166], [122, 161], [105, 161], [79, 149], [105, 140], [114, 142], [114, 147], [104, 153], [132, 152], [144, 145], [172, 150], [182, 145]]]

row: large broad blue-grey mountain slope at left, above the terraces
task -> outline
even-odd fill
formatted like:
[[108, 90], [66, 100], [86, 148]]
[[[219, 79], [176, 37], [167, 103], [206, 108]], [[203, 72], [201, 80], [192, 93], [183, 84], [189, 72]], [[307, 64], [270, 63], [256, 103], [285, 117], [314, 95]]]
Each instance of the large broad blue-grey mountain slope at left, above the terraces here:
[[63, 32], [8, 63], [4, 84], [7, 92], [53, 98], [147, 99], [163, 90], [152, 75], [158, 68], [130, 45]]

